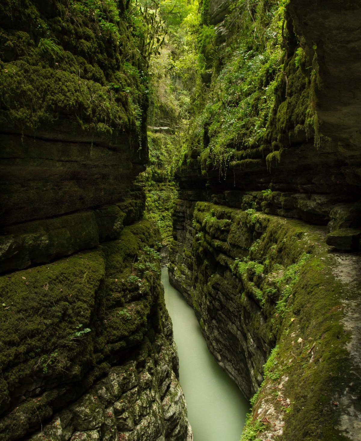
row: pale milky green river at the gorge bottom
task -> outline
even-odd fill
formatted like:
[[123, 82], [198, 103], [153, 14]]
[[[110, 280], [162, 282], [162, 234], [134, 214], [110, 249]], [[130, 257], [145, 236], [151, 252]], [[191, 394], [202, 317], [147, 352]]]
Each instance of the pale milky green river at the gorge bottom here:
[[169, 284], [167, 268], [162, 282], [194, 441], [239, 441], [249, 403], [208, 351], [193, 309]]

